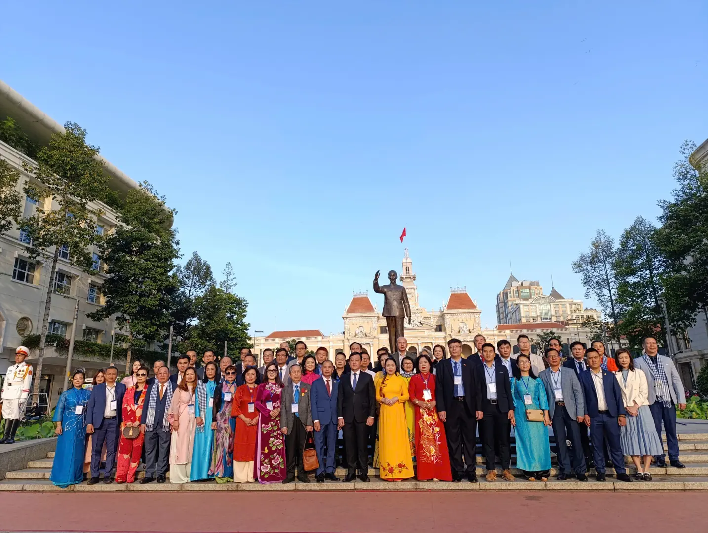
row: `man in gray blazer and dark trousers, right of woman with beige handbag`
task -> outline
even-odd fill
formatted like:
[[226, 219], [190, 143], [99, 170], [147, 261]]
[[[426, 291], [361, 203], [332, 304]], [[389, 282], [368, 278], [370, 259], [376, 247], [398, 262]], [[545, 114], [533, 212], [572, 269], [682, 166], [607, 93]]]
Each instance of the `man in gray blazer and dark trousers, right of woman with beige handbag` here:
[[571, 458], [566, 439], [573, 445], [573, 466], [578, 481], [588, 481], [585, 473], [585, 457], [580, 440], [580, 427], [585, 412], [583, 389], [576, 373], [571, 368], [561, 367], [561, 354], [556, 348], [546, 349], [549, 367], [539, 373], [546, 389], [548, 411], [551, 416], [553, 434], [558, 447], [559, 481], [568, 478], [571, 470]]

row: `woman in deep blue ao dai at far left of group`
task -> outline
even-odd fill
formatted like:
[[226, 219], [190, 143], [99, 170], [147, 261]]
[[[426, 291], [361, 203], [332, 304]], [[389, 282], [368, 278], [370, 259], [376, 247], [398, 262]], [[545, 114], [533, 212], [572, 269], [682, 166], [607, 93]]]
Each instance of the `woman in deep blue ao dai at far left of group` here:
[[57, 423], [55, 432], [57, 450], [52, 464], [52, 483], [68, 487], [84, 480], [84, 454], [86, 452], [86, 407], [91, 391], [83, 388], [83, 370], [72, 377], [72, 388], [59, 396], [59, 403], [52, 421]]

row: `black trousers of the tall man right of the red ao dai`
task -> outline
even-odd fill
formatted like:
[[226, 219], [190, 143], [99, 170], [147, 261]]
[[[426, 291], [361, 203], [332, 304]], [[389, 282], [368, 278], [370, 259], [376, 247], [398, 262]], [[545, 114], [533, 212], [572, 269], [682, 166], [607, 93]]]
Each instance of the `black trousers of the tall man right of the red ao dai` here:
[[[447, 408], [445, 433], [447, 450], [450, 452], [450, 469], [453, 477], [462, 477], [467, 466], [467, 474], [476, 472], [476, 413], [470, 413], [467, 403], [457, 399]], [[462, 453], [464, 452], [464, 463]]]

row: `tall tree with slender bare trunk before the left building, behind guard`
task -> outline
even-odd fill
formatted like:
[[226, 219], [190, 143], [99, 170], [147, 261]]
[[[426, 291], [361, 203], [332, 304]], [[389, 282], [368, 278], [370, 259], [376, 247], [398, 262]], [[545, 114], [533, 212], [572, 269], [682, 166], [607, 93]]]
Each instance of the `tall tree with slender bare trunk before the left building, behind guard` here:
[[[51, 260], [48, 290], [42, 316], [39, 356], [35, 374], [42, 374], [45, 343], [52, 304], [52, 289], [57, 272], [59, 248], [69, 248], [72, 263], [91, 270], [92, 247], [102, 241], [96, 234], [96, 221], [102, 212], [95, 202], [105, 198], [108, 176], [98, 159], [98, 147], [86, 144], [86, 130], [73, 122], [64, 125], [64, 132], [52, 134], [49, 144], [36, 156], [36, 165], [25, 164], [31, 180], [25, 193], [43, 201], [44, 210], [25, 217], [20, 224], [31, 239], [28, 254], [32, 258]], [[56, 207], [56, 208], [55, 208]], [[39, 393], [40, 379], [35, 379], [34, 393]]]

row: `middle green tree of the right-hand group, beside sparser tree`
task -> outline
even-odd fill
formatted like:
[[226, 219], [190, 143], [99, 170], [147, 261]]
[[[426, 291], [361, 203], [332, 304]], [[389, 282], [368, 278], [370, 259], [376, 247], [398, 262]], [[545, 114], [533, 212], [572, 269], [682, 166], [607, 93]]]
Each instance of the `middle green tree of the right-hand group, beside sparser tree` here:
[[632, 348], [639, 348], [641, 340], [661, 330], [664, 347], [664, 327], [661, 306], [661, 255], [653, 236], [656, 227], [644, 217], [636, 217], [632, 226], [619, 239], [612, 270], [617, 280], [617, 314], [621, 317], [619, 331]]

